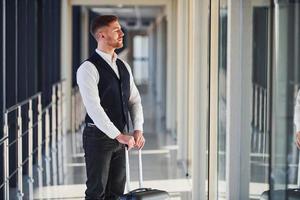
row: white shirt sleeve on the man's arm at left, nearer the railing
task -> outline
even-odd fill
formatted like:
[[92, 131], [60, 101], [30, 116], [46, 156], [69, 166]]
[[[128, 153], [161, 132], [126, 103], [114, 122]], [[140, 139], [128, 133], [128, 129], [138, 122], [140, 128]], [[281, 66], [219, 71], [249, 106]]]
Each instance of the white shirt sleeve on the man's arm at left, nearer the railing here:
[[100, 104], [98, 91], [99, 73], [89, 61], [84, 62], [77, 70], [77, 84], [88, 115], [94, 124], [108, 137], [114, 139], [120, 131], [110, 121]]

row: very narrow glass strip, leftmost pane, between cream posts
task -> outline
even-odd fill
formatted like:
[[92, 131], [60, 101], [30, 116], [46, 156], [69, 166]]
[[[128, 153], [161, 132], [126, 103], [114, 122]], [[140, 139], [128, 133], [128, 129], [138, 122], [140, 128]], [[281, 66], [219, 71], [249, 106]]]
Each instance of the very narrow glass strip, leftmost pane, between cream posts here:
[[218, 199], [226, 198], [226, 72], [227, 1], [220, 2], [219, 13], [219, 91], [218, 91]]

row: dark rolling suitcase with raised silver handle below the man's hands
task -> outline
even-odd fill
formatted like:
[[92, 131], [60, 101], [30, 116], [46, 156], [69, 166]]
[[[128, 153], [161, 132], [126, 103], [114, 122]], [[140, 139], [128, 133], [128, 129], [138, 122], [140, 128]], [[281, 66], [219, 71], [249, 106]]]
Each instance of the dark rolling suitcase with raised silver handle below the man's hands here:
[[[127, 191], [130, 191], [130, 173], [129, 173], [129, 156], [128, 150], [125, 148], [126, 157], [126, 185]], [[142, 169], [142, 152], [139, 150], [139, 187], [122, 196], [119, 200], [167, 200], [170, 199], [168, 192], [152, 188], [143, 188], [143, 169]]]

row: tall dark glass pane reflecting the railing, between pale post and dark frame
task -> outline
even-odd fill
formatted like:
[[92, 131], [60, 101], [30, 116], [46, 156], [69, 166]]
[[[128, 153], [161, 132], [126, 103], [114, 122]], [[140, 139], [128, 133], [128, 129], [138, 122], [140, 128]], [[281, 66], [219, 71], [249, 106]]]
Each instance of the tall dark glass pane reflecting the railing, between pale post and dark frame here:
[[269, 8], [252, 9], [252, 122], [250, 149], [251, 199], [259, 199], [269, 185], [268, 64]]

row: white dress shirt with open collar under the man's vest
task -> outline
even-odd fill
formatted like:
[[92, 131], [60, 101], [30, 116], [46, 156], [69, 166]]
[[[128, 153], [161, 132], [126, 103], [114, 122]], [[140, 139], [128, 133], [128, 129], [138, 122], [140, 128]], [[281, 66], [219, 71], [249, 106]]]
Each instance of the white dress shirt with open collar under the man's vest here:
[[[119, 77], [119, 71], [116, 64], [117, 54], [114, 53], [114, 55], [111, 56], [110, 54], [99, 51], [98, 49], [96, 49], [96, 52], [109, 64], [109, 66], [116, 73], [117, 77]], [[130, 76], [130, 97], [128, 106], [130, 117], [133, 123], [133, 129], [143, 131], [144, 117], [141, 97], [134, 83], [129, 64], [124, 61], [123, 63], [125, 64]], [[110, 138], [116, 138], [120, 134], [120, 131], [111, 122], [100, 104], [98, 83], [101, 77], [99, 77], [97, 68], [91, 62], [85, 61], [78, 68], [76, 77], [83, 104], [88, 115], [91, 117], [97, 128], [99, 128]]]

